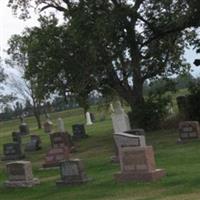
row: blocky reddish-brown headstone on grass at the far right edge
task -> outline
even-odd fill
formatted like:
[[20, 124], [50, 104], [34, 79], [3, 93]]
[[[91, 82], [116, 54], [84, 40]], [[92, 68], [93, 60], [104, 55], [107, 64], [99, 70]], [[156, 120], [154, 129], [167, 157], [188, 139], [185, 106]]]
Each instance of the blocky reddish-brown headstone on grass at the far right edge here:
[[179, 135], [181, 140], [200, 137], [198, 121], [183, 121], [179, 123]]

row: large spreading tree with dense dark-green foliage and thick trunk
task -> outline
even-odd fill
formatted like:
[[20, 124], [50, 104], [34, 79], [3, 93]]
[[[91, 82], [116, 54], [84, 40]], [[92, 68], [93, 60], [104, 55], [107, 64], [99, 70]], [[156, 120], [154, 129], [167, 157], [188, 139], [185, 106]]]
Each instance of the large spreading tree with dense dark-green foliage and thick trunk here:
[[[27, 17], [32, 1], [8, 2], [15, 12], [21, 11], [22, 17]], [[66, 26], [59, 28], [48, 21], [43, 23], [43, 34], [39, 35], [43, 35], [44, 42], [38, 42], [41, 38], [38, 29], [34, 29], [29, 53], [35, 59], [30, 62], [33, 70], [29, 72], [38, 78], [42, 69], [44, 81], [40, 83], [45, 83], [41, 84], [44, 87], [66, 88], [61, 86], [64, 80], [67, 86], [73, 86], [70, 91], [84, 86], [83, 91], [88, 94], [94, 83], [98, 89], [112, 88], [133, 109], [144, 103], [146, 80], [183, 73], [190, 68], [183, 55], [197, 38], [194, 28], [200, 25], [198, 0], [34, 2], [40, 11], [54, 8], [63, 12], [67, 21]], [[52, 76], [61, 79], [61, 85], [52, 82]], [[75, 79], [79, 84], [74, 83]], [[82, 80], [90, 84], [86, 87]]]

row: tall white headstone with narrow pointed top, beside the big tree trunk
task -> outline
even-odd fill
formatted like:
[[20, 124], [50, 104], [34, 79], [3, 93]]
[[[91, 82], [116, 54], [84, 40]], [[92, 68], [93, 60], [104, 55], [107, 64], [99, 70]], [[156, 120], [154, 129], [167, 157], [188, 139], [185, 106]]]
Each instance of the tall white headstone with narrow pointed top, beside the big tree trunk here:
[[121, 133], [131, 130], [128, 115], [121, 107], [121, 103], [117, 101], [113, 105], [114, 105], [114, 112], [111, 114], [111, 118], [112, 118], [114, 133]]

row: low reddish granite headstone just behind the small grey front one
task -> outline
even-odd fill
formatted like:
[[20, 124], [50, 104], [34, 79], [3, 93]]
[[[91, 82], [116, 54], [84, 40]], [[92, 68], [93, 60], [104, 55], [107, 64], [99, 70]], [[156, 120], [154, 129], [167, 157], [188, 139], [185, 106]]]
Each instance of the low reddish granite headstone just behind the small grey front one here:
[[69, 157], [70, 150], [68, 147], [54, 147], [48, 151], [43, 168], [58, 167], [60, 161], [68, 160]]

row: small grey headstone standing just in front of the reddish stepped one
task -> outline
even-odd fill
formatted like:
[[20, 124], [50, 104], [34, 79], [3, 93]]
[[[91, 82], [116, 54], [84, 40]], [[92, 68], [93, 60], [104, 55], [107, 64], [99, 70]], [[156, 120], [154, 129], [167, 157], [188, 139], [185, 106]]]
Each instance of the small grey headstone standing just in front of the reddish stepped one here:
[[80, 159], [64, 160], [60, 162], [61, 180], [57, 185], [74, 185], [88, 181], [83, 163]]

